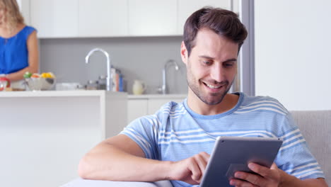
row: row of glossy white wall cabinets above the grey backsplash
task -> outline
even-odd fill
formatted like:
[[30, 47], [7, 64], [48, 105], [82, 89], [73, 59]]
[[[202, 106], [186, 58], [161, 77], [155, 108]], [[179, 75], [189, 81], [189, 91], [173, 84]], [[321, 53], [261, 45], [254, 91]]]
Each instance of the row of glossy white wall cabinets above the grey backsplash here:
[[39, 38], [182, 35], [187, 17], [198, 8], [231, 9], [231, 0], [18, 1]]

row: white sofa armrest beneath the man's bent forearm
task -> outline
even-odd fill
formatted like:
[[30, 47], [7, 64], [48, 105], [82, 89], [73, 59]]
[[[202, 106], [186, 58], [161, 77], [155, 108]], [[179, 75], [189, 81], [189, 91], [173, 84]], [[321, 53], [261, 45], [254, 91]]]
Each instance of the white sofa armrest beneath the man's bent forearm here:
[[129, 181], [98, 181], [76, 179], [61, 187], [173, 187], [170, 181], [129, 182]]

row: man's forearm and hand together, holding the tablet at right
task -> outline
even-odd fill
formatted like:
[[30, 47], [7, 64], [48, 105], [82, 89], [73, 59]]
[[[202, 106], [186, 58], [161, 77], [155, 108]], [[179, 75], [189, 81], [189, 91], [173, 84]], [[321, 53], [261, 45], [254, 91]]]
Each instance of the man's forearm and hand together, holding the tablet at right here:
[[276, 164], [272, 164], [269, 169], [258, 164], [248, 164], [248, 167], [257, 174], [249, 174], [238, 171], [235, 177], [242, 180], [231, 179], [233, 186], [270, 186], [270, 187], [327, 187], [324, 179], [305, 179], [300, 180], [295, 176], [286, 174], [285, 171], [278, 169]]

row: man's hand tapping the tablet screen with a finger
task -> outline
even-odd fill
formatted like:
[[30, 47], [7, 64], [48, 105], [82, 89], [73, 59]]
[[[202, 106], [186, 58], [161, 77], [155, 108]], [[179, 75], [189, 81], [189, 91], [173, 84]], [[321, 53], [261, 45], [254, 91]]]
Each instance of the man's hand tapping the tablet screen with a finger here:
[[185, 181], [190, 184], [199, 184], [206, 169], [210, 155], [200, 152], [193, 157], [173, 162], [170, 171], [170, 180]]

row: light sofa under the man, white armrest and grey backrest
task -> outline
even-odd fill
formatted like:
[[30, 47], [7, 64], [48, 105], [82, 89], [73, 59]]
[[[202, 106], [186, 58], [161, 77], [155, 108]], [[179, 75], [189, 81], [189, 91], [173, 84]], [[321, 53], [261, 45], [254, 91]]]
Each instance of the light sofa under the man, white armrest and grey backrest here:
[[[310, 151], [322, 167], [327, 184], [331, 184], [331, 111], [291, 111]], [[172, 187], [169, 181], [122, 182], [76, 179], [62, 187]]]

